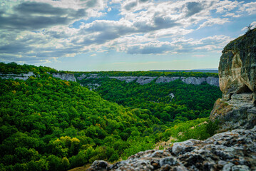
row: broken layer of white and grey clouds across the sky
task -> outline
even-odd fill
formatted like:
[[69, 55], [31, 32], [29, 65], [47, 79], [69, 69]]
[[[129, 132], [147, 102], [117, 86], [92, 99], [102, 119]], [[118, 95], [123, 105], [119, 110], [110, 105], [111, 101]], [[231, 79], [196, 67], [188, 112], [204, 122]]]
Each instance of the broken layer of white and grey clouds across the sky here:
[[[74, 21], [104, 16], [114, 8], [121, 11], [118, 21], [86, 21], [79, 28], [70, 28]], [[132, 54], [220, 51], [230, 37], [185, 37], [196, 28], [200, 31], [206, 26], [226, 24], [231, 17], [244, 15], [242, 9], [255, 14], [255, 8], [255, 2], [227, 0], [3, 1], [0, 60], [49, 61], [109, 50]], [[256, 25], [255, 22], [252, 24]]]

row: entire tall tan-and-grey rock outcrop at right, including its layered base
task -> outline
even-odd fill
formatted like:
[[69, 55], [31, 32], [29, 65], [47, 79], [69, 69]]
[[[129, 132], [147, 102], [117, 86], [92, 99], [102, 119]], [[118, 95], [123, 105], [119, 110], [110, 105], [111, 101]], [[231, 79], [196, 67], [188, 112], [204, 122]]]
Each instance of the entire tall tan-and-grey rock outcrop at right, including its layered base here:
[[256, 28], [225, 46], [219, 65], [222, 99], [210, 119], [220, 120], [220, 131], [256, 125]]

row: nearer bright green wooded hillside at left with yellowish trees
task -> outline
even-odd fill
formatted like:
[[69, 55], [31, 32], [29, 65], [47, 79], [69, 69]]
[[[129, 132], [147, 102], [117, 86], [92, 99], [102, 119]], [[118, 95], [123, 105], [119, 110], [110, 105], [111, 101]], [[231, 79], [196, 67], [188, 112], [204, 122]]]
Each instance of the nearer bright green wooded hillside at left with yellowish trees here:
[[[7, 170], [66, 170], [96, 159], [118, 160], [158, 123], [48, 74], [0, 80], [0, 94], [0, 160]], [[143, 150], [154, 141], [140, 138], [138, 146]]]

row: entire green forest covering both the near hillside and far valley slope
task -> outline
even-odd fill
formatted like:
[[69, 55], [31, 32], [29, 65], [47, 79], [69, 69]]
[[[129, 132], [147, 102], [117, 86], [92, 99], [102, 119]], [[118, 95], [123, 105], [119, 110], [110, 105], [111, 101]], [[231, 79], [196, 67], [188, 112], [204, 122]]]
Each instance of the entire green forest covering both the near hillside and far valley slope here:
[[94, 160], [114, 162], [170, 136], [203, 140], [217, 129], [205, 117], [221, 93], [206, 83], [142, 86], [101, 78], [94, 81], [101, 86], [89, 90], [80, 83], [90, 81], [53, 78], [52, 68], [0, 67], [0, 73], [29, 71], [36, 76], [26, 81], [0, 78], [0, 170], [69, 170]]

